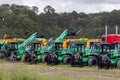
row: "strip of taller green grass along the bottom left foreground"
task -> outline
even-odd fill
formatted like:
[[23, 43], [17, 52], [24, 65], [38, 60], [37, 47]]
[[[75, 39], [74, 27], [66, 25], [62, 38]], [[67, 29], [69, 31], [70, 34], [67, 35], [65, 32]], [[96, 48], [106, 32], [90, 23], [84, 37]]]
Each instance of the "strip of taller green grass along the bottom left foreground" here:
[[0, 70], [0, 80], [97, 80], [94, 77], [71, 77], [61, 74], [40, 75], [34, 71]]

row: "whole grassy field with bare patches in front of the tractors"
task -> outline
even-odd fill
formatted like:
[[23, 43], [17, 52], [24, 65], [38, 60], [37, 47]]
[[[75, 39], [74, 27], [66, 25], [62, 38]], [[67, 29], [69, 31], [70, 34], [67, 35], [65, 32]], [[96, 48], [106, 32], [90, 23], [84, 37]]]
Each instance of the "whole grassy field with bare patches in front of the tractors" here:
[[10, 63], [0, 60], [0, 80], [120, 80], [120, 69], [48, 66], [45, 63]]

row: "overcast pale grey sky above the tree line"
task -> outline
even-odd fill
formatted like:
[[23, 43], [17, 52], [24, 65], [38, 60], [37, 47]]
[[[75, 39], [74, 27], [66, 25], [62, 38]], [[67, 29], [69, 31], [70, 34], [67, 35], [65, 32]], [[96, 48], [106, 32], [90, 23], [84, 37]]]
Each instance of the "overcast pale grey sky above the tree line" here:
[[0, 0], [0, 4], [19, 4], [37, 6], [40, 12], [46, 5], [52, 6], [56, 12], [96, 13], [120, 9], [120, 0]]

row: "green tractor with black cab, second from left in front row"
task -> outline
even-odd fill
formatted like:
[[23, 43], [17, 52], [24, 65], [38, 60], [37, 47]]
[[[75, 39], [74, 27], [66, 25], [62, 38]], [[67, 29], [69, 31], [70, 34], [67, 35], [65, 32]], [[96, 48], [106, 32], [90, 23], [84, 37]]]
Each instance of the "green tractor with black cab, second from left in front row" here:
[[22, 61], [36, 64], [42, 60], [44, 56], [44, 46], [40, 41], [30, 42], [26, 45]]

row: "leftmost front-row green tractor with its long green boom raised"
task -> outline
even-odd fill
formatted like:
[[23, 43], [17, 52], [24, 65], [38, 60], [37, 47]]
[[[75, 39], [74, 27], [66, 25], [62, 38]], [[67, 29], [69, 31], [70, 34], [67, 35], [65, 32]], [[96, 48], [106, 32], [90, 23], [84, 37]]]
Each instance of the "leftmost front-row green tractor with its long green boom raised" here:
[[24, 42], [17, 41], [17, 42], [4, 43], [0, 52], [2, 53], [2, 55], [6, 57], [8, 61], [20, 60], [23, 56], [25, 45], [28, 42], [33, 41], [36, 37], [37, 37], [37, 33], [34, 33]]

